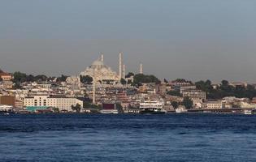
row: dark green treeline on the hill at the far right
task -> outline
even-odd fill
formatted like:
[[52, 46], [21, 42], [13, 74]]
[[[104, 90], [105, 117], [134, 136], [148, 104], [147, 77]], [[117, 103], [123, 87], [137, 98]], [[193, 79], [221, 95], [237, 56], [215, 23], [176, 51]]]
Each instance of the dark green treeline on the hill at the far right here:
[[223, 80], [221, 84], [214, 88], [210, 80], [196, 82], [197, 89], [200, 89], [207, 94], [209, 99], [222, 99], [226, 96], [236, 96], [238, 98], [252, 99], [256, 96], [256, 89], [253, 85], [247, 86], [232, 86], [227, 80]]

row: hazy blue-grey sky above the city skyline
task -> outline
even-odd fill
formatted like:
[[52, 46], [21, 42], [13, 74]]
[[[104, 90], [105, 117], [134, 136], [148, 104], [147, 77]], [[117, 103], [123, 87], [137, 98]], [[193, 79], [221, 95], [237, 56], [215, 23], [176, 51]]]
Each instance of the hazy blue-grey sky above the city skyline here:
[[0, 68], [77, 75], [98, 53], [159, 78], [256, 83], [255, 0], [0, 0]]

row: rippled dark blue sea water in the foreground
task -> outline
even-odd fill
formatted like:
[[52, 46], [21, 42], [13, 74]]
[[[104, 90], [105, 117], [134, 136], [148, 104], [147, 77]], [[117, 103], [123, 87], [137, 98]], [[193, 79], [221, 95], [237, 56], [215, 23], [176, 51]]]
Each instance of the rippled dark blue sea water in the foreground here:
[[256, 116], [0, 115], [0, 161], [256, 161]]

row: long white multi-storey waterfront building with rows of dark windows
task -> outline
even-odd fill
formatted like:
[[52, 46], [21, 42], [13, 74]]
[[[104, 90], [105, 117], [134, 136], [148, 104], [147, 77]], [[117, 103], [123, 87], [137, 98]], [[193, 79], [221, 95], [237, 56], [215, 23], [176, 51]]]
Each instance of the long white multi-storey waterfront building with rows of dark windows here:
[[83, 107], [83, 101], [76, 98], [69, 98], [65, 96], [33, 96], [24, 98], [24, 106], [30, 107], [54, 107], [59, 110], [72, 111], [72, 105], [80, 104]]

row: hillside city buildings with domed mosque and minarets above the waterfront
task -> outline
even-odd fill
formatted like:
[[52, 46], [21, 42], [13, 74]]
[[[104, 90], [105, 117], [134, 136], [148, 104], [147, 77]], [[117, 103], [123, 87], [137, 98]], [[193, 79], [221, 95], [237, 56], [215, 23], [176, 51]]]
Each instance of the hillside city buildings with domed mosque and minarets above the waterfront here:
[[[143, 74], [140, 64], [138, 73]], [[80, 78], [89, 76], [92, 83], [82, 83]], [[0, 70], [0, 112], [17, 113], [80, 112], [140, 113], [140, 109], [156, 108], [167, 112], [184, 109], [184, 98], [193, 104], [191, 110], [218, 109], [256, 109], [256, 98], [224, 97], [222, 100], [208, 100], [206, 92], [198, 90], [194, 83], [176, 80], [163, 83], [141, 83], [132, 86], [134, 75], [126, 75], [123, 53], [119, 53], [119, 73], [106, 66], [104, 55], [80, 72], [67, 77], [66, 81], [57, 79], [45, 82], [24, 82], [20, 88], [13, 88], [13, 76]], [[121, 83], [124, 79], [126, 83]], [[245, 83], [243, 83], [244, 85]], [[233, 83], [233, 86], [241, 83]], [[213, 86], [214, 87], [214, 86]], [[175, 93], [171, 93], [175, 92]], [[173, 104], [173, 103], [176, 103]], [[104, 106], [105, 105], [105, 106]], [[74, 108], [76, 107], [76, 109]]]

